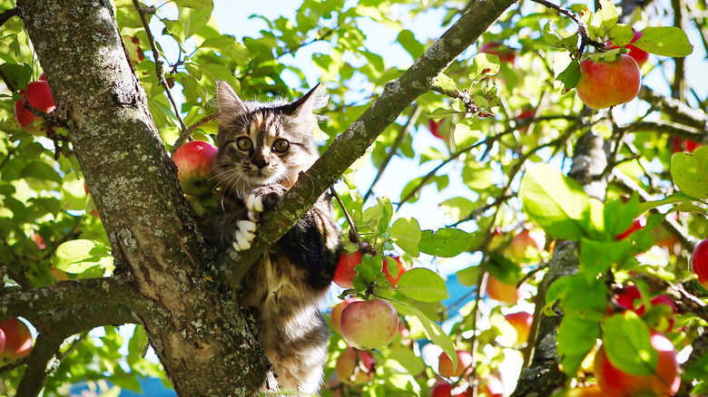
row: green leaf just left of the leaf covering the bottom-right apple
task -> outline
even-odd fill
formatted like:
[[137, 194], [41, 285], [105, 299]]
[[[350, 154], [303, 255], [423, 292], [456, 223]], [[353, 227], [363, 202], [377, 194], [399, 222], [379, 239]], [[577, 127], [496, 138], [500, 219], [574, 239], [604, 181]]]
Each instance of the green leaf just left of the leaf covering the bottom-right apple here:
[[600, 337], [600, 324], [575, 315], [565, 315], [558, 327], [556, 343], [561, 357], [563, 372], [571, 376], [577, 373], [585, 356], [595, 346]]

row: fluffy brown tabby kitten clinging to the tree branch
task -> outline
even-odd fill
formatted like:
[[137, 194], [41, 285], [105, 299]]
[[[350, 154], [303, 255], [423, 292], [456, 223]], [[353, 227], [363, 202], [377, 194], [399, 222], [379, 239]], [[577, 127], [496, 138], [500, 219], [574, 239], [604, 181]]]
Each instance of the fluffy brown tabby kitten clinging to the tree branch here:
[[[251, 247], [263, 211], [269, 211], [300, 171], [319, 157], [313, 114], [326, 103], [320, 86], [295, 102], [243, 102], [217, 84], [219, 131], [214, 176], [223, 214], [214, 219], [217, 245]], [[319, 304], [334, 276], [339, 229], [329, 195], [249, 269], [241, 302], [253, 310], [263, 351], [284, 392], [319, 394], [329, 330]]]

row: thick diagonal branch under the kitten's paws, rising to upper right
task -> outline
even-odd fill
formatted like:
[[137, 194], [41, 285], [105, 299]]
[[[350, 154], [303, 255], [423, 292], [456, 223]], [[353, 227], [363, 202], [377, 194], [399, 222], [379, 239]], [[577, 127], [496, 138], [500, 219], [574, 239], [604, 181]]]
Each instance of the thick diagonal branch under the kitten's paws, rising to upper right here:
[[[398, 115], [419, 95], [427, 92], [439, 73], [457, 55], [494, 23], [513, 0], [477, 2], [432, 44], [398, 80], [388, 82], [379, 99], [342, 132], [329, 149], [308, 170], [309, 177], [297, 183], [280, 200], [273, 212], [266, 214], [250, 249], [238, 255], [236, 266], [223, 269], [233, 283], [239, 283], [251, 264], [263, 251], [284, 235], [339, 176], [357, 160]], [[227, 263], [232, 263], [227, 261]]]

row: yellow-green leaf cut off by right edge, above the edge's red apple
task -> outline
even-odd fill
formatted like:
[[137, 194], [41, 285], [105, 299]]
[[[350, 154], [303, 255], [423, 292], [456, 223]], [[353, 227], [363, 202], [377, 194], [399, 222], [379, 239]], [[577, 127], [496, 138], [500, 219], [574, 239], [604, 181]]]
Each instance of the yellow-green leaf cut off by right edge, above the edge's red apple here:
[[671, 177], [683, 193], [696, 198], [708, 198], [708, 146], [693, 153], [674, 153]]

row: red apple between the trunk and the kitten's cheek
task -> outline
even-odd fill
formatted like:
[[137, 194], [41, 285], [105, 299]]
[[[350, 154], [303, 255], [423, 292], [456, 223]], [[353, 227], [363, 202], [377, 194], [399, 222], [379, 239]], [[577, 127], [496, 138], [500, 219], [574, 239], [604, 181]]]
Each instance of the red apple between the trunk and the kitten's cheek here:
[[216, 183], [211, 167], [218, 149], [203, 140], [192, 140], [180, 146], [172, 155], [177, 165], [177, 178], [180, 179], [182, 193], [202, 197], [211, 193]]

